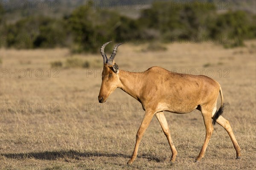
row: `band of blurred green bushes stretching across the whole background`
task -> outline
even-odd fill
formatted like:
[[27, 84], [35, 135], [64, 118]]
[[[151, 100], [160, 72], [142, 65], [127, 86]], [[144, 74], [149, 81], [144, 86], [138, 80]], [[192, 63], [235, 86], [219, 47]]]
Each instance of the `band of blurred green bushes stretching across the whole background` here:
[[[142, 43], [214, 39], [225, 47], [235, 47], [256, 37], [255, 8], [241, 8], [243, 3], [238, 1], [229, 4], [214, 1], [214, 6], [209, 6], [208, 1], [187, 1], [193, 3], [183, 5], [171, 0], [140, 1], [141, 7], [136, 4], [137, 10], [126, 10], [125, 14], [122, 8], [113, 8], [115, 4], [107, 8], [104, 1], [42, 2], [46, 9], [41, 11], [33, 6], [31, 9], [1, 6], [1, 46], [68, 47], [73, 52], [96, 52], [109, 40]], [[99, 2], [103, 2], [102, 6], [97, 6]], [[254, 4], [251, 3], [245, 4]], [[133, 7], [131, 4], [130, 8]], [[137, 15], [134, 17], [129, 11]]]

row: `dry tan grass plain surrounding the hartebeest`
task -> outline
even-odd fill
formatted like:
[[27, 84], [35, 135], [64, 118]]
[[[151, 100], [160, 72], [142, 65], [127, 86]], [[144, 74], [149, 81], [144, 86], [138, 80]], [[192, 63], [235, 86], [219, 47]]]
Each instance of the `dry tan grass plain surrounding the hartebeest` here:
[[[165, 45], [166, 51], [156, 52], [143, 52], [147, 45], [119, 47], [115, 61], [120, 69], [140, 71], [158, 65], [191, 74], [204, 69], [202, 74], [211, 76], [213, 71], [213, 78], [222, 86], [224, 102], [230, 104], [223, 116], [233, 127], [242, 149], [241, 159], [235, 159], [226, 131], [215, 125], [204, 159], [194, 163], [205, 136], [201, 113], [165, 113], [178, 151], [172, 166], [167, 139], [155, 118], [140, 144], [138, 158], [131, 166], [126, 165], [144, 112], [139, 102], [119, 89], [107, 103], [99, 104], [100, 68], [51, 68], [51, 62], [70, 57], [67, 49], [1, 49], [0, 169], [256, 169], [255, 41], [246, 45], [224, 49], [213, 44], [175, 43]], [[102, 61], [100, 54], [75, 57]], [[34, 69], [31, 77], [27, 71], [22, 78], [21, 69], [28, 68]], [[2, 75], [6, 69], [17, 69], [17, 77]], [[35, 75], [37, 69], [44, 73], [41, 78], [36, 77], [41, 75], [39, 71]], [[6, 103], [14, 108], [6, 108]], [[36, 104], [38, 110], [41, 105], [44, 109], [36, 110]], [[26, 109], [21, 112], [24, 105]]]

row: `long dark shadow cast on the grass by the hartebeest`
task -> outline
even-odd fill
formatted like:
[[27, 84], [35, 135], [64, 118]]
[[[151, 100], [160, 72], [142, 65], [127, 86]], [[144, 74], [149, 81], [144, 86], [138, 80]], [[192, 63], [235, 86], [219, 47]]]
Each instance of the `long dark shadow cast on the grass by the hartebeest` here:
[[[119, 154], [114, 154], [114, 153], [96, 153], [96, 152], [78, 152], [75, 150], [60, 150], [60, 151], [45, 151], [45, 152], [31, 152], [31, 153], [1, 153], [0, 156], [5, 156], [6, 158], [9, 159], [41, 159], [41, 160], [56, 160], [56, 159], [61, 159], [61, 158], [70, 158], [70, 159], [80, 159], [80, 157], [100, 157], [100, 156], [105, 156], [105, 157], [122, 157], [122, 158], [127, 158], [129, 159], [131, 156], [130, 155], [124, 155], [122, 153]], [[152, 156], [138, 156], [138, 158], [144, 158], [148, 159], [150, 161], [157, 161], [160, 162], [161, 160], [158, 159], [157, 157], [152, 157]]]

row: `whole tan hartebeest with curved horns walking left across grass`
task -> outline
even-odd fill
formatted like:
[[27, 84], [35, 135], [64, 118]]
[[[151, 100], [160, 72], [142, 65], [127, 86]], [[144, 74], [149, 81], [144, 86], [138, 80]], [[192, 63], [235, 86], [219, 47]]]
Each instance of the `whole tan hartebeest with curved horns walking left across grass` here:
[[[172, 150], [171, 161], [174, 163], [177, 150], [172, 142], [163, 111], [189, 113], [195, 109], [202, 112], [206, 128], [204, 144], [196, 161], [200, 161], [204, 156], [207, 144], [212, 136], [212, 124], [215, 125], [215, 122], [227, 130], [236, 149], [236, 158], [240, 158], [241, 150], [230, 123], [221, 116], [224, 105], [221, 86], [218, 82], [207, 76], [178, 74], [157, 66], [139, 73], [119, 70], [114, 62], [114, 58], [118, 46], [122, 43], [117, 44], [113, 48], [113, 53], [109, 59], [104, 52], [104, 48], [108, 43], [110, 42], [102, 45], [100, 50], [104, 59], [104, 66], [102, 71], [102, 85], [99, 91], [99, 102], [105, 102], [116, 88], [121, 88], [127, 94], [137, 99], [145, 111], [144, 118], [136, 135], [134, 152], [128, 164], [133, 163], [136, 159], [140, 140], [154, 115], [157, 117], [163, 133], [168, 139]], [[216, 105], [219, 93], [221, 95], [221, 107], [217, 111]], [[212, 122], [211, 119], [213, 119]]]

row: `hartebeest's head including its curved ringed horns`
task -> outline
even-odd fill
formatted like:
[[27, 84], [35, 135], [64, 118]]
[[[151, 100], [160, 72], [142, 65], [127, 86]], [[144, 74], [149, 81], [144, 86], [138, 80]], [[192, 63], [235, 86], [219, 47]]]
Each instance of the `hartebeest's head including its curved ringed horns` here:
[[[111, 42], [111, 41], [110, 41]], [[110, 42], [107, 42], [102, 45], [100, 48], [100, 52], [103, 57], [103, 71], [102, 71], [102, 85], [99, 91], [99, 102], [103, 103], [106, 102], [108, 96], [118, 87], [120, 80], [119, 80], [119, 68], [118, 65], [114, 62], [114, 58], [116, 56], [116, 51], [119, 45], [122, 43], [117, 44], [113, 48], [113, 52], [109, 59], [107, 58], [104, 49], [105, 46], [108, 45]]]

